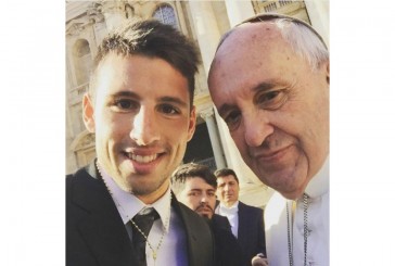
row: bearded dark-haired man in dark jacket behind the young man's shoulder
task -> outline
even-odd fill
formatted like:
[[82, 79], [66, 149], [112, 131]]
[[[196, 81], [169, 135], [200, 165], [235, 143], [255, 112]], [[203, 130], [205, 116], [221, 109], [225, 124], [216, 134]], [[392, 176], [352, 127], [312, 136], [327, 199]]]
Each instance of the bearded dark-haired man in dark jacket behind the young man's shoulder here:
[[216, 266], [241, 266], [241, 249], [225, 216], [214, 214], [217, 182], [205, 165], [188, 163], [173, 174], [171, 188], [177, 199], [207, 219], [215, 240]]

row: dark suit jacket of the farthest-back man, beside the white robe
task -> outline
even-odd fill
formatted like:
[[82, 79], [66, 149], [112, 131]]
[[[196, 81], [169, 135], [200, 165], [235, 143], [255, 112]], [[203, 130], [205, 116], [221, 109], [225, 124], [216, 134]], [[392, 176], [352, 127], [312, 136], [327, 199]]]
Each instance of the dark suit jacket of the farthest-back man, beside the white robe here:
[[243, 265], [258, 253], [266, 255], [264, 211], [239, 201], [238, 241], [243, 254]]

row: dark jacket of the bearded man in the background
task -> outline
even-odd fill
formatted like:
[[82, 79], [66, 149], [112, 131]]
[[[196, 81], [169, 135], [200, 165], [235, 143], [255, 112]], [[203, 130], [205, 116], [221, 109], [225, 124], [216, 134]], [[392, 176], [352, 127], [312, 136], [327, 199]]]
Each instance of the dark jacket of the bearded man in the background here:
[[241, 248], [227, 217], [214, 214], [211, 226], [215, 241], [216, 266], [242, 266]]

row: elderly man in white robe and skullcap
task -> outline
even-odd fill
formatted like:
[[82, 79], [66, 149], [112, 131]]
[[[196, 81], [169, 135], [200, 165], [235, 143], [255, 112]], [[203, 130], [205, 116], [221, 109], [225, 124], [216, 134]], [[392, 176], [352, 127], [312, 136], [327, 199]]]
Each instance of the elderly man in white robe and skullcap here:
[[329, 265], [329, 52], [278, 14], [227, 33], [208, 88], [244, 162], [275, 193], [265, 210], [270, 266]]

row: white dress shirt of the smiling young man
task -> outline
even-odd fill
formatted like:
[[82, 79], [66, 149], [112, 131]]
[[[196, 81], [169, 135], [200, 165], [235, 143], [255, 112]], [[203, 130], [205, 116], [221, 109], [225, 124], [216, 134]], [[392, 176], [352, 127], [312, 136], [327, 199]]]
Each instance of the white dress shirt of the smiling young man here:
[[[126, 225], [137, 213], [146, 207], [154, 207], [161, 216], [156, 219], [148, 237], [149, 242], [156, 251], [158, 242], [164, 235], [163, 242], [157, 253], [157, 265], [188, 265], [187, 236], [183, 230], [182, 221], [170, 207], [171, 191], [167, 189], [166, 193], [153, 204], [144, 204], [133, 194], [122, 190], [102, 168], [100, 168], [104, 182], [111, 190], [115, 205], [119, 215]], [[167, 220], [170, 219], [170, 223]], [[167, 225], [167, 227], [166, 227]], [[130, 230], [129, 230], [130, 232]], [[154, 265], [152, 250], [149, 244], [145, 245], [146, 265]]]

